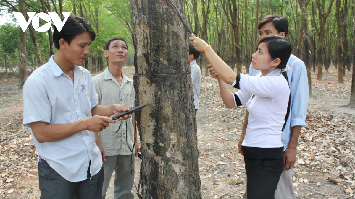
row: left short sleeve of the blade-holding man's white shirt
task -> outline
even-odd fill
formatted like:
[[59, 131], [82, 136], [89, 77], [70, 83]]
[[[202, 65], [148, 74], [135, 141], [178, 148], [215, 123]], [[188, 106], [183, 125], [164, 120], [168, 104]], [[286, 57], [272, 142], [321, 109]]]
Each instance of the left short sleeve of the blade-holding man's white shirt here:
[[23, 85], [23, 125], [36, 121], [51, 122], [51, 103], [47, 90], [34, 79], [28, 79]]

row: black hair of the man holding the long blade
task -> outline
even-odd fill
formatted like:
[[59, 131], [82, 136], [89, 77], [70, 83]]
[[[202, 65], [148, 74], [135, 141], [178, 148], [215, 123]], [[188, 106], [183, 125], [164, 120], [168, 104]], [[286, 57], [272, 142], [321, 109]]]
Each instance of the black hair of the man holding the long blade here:
[[[63, 21], [64, 17], [62, 17], [61, 20]], [[70, 45], [70, 42], [76, 35], [84, 32], [89, 32], [91, 41], [95, 40], [96, 34], [91, 28], [91, 24], [82, 17], [70, 15], [60, 32], [58, 32], [57, 28], [54, 26], [53, 42], [55, 48], [59, 49], [59, 40], [61, 38]]]

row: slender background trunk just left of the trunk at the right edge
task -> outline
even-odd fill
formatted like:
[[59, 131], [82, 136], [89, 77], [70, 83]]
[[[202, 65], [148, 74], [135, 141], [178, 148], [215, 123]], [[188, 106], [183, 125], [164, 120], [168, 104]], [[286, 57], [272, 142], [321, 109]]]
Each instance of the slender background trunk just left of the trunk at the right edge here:
[[343, 52], [343, 12], [344, 7], [342, 6], [343, 0], [336, 0], [335, 1], [335, 18], [337, 19], [337, 58], [338, 58], [338, 82], [344, 83], [344, 52]]

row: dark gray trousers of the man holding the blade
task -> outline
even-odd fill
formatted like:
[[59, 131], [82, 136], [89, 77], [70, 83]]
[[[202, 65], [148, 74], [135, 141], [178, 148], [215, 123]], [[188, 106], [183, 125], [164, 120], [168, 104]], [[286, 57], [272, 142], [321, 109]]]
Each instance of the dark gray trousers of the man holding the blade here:
[[[89, 166], [90, 169], [90, 166]], [[104, 183], [104, 169], [90, 179], [80, 182], [70, 182], [59, 175], [47, 161], [42, 159], [38, 163], [40, 199], [101, 199], [102, 185]]]

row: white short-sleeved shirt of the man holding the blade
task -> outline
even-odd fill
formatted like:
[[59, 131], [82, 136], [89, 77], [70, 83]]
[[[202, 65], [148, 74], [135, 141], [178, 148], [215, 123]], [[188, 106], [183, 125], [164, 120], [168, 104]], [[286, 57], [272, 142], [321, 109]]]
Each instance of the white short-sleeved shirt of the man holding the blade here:
[[[69, 124], [91, 117], [97, 94], [88, 70], [73, 65], [74, 83], [53, 60], [36, 69], [23, 86], [23, 125], [43, 121]], [[78, 182], [94, 176], [102, 167], [100, 150], [93, 132], [84, 130], [60, 141], [39, 143], [32, 139], [38, 154], [67, 181]]]

